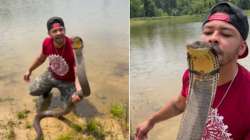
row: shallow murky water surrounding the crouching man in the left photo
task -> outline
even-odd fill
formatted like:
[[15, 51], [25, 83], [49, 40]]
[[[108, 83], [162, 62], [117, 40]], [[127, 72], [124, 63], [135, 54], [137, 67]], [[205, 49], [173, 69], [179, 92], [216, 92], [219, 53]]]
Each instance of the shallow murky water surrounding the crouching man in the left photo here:
[[[86, 68], [92, 88], [87, 100], [99, 112], [108, 112], [112, 103], [127, 103], [129, 8], [128, 1], [124, 0], [1, 1], [1, 97], [13, 97], [14, 104], [21, 107], [23, 104], [28, 108], [30, 104], [33, 106], [33, 97], [28, 95], [28, 84], [22, 76], [41, 52], [42, 40], [47, 36], [46, 22], [52, 16], [64, 19], [67, 35], [84, 39]], [[126, 67], [126, 70], [120, 69], [122, 76], [114, 73], [120, 64]], [[44, 69], [46, 64], [35, 70], [31, 78]], [[8, 105], [1, 107], [5, 112], [10, 109]]]

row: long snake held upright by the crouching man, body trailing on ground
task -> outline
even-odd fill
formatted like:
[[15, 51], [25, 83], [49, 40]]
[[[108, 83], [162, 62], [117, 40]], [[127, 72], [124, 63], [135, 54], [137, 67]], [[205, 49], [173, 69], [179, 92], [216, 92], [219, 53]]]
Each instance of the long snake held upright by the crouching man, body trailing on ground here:
[[[81, 86], [81, 91], [77, 91], [76, 94], [80, 96], [82, 99], [83, 97], [90, 95], [90, 86], [89, 82], [86, 76], [85, 72], [85, 64], [84, 64], [84, 57], [82, 54], [83, 49], [83, 41], [80, 37], [74, 37], [73, 38], [73, 48], [75, 50], [75, 59], [77, 60], [77, 76], [78, 81]], [[71, 101], [71, 98], [69, 98], [68, 102], [66, 103], [66, 106], [63, 108], [54, 108], [50, 110], [45, 110], [42, 112], [38, 112], [35, 116], [33, 127], [35, 128], [35, 131], [37, 133], [36, 140], [42, 140], [43, 139], [43, 131], [40, 125], [40, 122], [45, 117], [56, 117], [56, 118], [62, 118], [63, 115], [68, 114], [73, 108], [74, 103]]]

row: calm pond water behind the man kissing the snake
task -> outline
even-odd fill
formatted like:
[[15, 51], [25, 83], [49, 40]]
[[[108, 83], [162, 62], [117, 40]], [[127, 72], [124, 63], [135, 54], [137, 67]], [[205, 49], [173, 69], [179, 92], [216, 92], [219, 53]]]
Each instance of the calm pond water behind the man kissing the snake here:
[[[130, 29], [130, 118], [134, 131], [136, 124], [180, 93], [182, 73], [187, 68], [185, 45], [199, 40], [201, 22], [167, 19], [132, 24]], [[241, 63], [250, 68], [249, 60], [250, 57]], [[149, 138], [175, 139], [179, 119], [157, 125]]]

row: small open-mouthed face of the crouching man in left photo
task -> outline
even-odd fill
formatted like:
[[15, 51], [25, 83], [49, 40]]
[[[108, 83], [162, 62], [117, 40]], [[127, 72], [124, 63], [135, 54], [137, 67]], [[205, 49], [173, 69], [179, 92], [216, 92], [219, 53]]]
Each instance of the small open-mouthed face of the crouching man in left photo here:
[[49, 35], [58, 45], [62, 45], [64, 43], [65, 30], [62, 26], [50, 29]]

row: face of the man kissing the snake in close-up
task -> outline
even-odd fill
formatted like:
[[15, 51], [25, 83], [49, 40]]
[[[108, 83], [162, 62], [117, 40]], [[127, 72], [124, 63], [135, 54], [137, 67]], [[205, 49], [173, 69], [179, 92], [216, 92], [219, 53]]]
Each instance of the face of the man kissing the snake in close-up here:
[[213, 20], [203, 26], [201, 40], [207, 43], [218, 44], [222, 50], [219, 54], [220, 64], [236, 62], [238, 56], [246, 49], [245, 42], [238, 30], [231, 24]]

